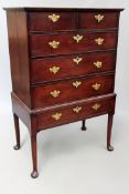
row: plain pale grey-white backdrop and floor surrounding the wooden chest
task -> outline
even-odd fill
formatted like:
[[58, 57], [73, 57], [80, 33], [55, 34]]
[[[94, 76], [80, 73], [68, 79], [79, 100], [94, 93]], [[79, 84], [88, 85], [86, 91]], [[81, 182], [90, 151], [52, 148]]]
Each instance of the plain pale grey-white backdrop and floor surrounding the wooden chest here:
[[[117, 109], [114, 124], [114, 154], [108, 155], [101, 145], [105, 144], [106, 116], [104, 120], [94, 119], [88, 122], [90, 131], [84, 133], [85, 140], [80, 136], [78, 127], [80, 123], [62, 126], [58, 131], [45, 132], [44, 143], [40, 143], [40, 155], [46, 154], [41, 164], [41, 178], [32, 182], [29, 176], [31, 171], [30, 140], [26, 136], [26, 129], [22, 125], [22, 140], [26, 144], [19, 151], [18, 155], [10, 149], [14, 142], [12, 114], [11, 114], [11, 78], [10, 60], [8, 50], [8, 34], [6, 11], [2, 7], [85, 7], [85, 8], [125, 8], [120, 17], [116, 93]], [[0, 1], [0, 152], [4, 153], [0, 159], [0, 194], [44, 193], [44, 194], [129, 194], [129, 0], [1, 0]], [[101, 116], [103, 118], [103, 116]], [[96, 125], [97, 123], [97, 125]], [[97, 129], [99, 131], [97, 131]], [[69, 131], [65, 131], [69, 127]], [[75, 127], [75, 131], [72, 131]], [[63, 130], [64, 129], [64, 130]], [[118, 130], [119, 129], [119, 130]], [[68, 136], [66, 134], [68, 133]], [[46, 135], [46, 136], [45, 136]], [[104, 136], [103, 136], [104, 135]], [[42, 135], [43, 136], [43, 135]], [[57, 139], [57, 137], [58, 139]], [[73, 137], [74, 136], [74, 137]], [[88, 140], [86, 139], [88, 136]], [[96, 140], [97, 136], [97, 140]], [[65, 142], [66, 139], [66, 142]], [[78, 141], [79, 139], [79, 141]], [[43, 140], [40, 139], [42, 142]], [[55, 140], [55, 141], [54, 141]], [[72, 140], [72, 142], [71, 142]], [[90, 141], [89, 141], [90, 140]], [[13, 141], [13, 142], [12, 142]], [[78, 143], [77, 143], [78, 141]], [[83, 143], [82, 143], [83, 141]], [[86, 143], [85, 143], [86, 141]], [[100, 141], [100, 142], [99, 142]], [[51, 143], [52, 142], [52, 143]], [[56, 142], [56, 143], [55, 143]], [[57, 143], [58, 142], [58, 143]], [[71, 142], [71, 143], [69, 143]], [[99, 142], [99, 143], [98, 143]], [[60, 144], [61, 143], [61, 144]], [[64, 143], [64, 147], [62, 145]], [[93, 146], [92, 146], [93, 145]], [[50, 147], [53, 147], [51, 151]], [[75, 151], [75, 147], [79, 149]], [[95, 149], [96, 147], [96, 149]], [[49, 150], [50, 149], [50, 150]], [[60, 152], [61, 151], [61, 152]], [[47, 154], [50, 152], [50, 155]], [[54, 157], [54, 153], [55, 157]], [[84, 153], [85, 152], [85, 153]], [[7, 155], [6, 155], [7, 153]], [[61, 154], [61, 155], [60, 155]], [[82, 154], [83, 161], [79, 161]], [[92, 155], [93, 154], [93, 155]], [[28, 157], [29, 155], [29, 157]], [[51, 157], [52, 155], [52, 157]], [[68, 155], [68, 157], [67, 157]], [[23, 156], [23, 157], [22, 157]], [[61, 156], [61, 159], [60, 159]], [[47, 159], [46, 159], [47, 157]], [[49, 160], [50, 157], [50, 160]], [[77, 161], [73, 165], [73, 159]], [[78, 160], [77, 160], [78, 159]], [[90, 160], [93, 159], [94, 163]], [[100, 160], [104, 163], [100, 163]], [[19, 161], [19, 162], [17, 162]], [[60, 163], [60, 162], [61, 163]], [[10, 164], [9, 164], [9, 163]], [[107, 164], [108, 162], [108, 164]], [[25, 164], [24, 164], [25, 163]], [[63, 167], [62, 167], [62, 165]], [[96, 165], [97, 164], [97, 165]], [[83, 165], [87, 165], [88, 167]], [[44, 166], [44, 167], [43, 167]], [[56, 171], [54, 171], [53, 166]], [[77, 169], [78, 166], [78, 169]], [[94, 166], [94, 169], [93, 169]], [[111, 170], [110, 170], [111, 166]], [[75, 169], [74, 169], [75, 167]], [[63, 171], [64, 170], [64, 171]], [[66, 173], [66, 172], [69, 173]], [[75, 173], [76, 172], [76, 173]], [[85, 172], [85, 173], [84, 173]], [[19, 174], [20, 173], [20, 174]], [[75, 174], [77, 176], [75, 176]], [[78, 177], [78, 178], [76, 178]], [[85, 183], [86, 180], [86, 183]], [[43, 182], [42, 182], [43, 181]], [[6, 186], [6, 183], [8, 186]], [[41, 185], [43, 184], [43, 185]], [[93, 186], [95, 185], [95, 186]], [[77, 186], [77, 187], [76, 187]], [[20, 187], [20, 190], [19, 190]], [[21, 193], [20, 193], [21, 192]]]

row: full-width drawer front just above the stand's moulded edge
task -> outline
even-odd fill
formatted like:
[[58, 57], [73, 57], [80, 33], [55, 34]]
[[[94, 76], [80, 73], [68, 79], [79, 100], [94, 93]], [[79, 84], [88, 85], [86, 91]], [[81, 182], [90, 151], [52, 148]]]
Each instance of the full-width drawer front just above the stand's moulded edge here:
[[111, 93], [114, 91], [114, 75], [96, 75], [94, 78], [72, 79], [53, 84], [32, 88], [33, 108], [44, 108], [71, 102], [89, 96]]

